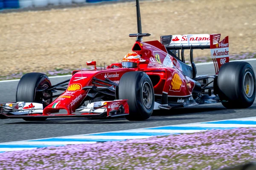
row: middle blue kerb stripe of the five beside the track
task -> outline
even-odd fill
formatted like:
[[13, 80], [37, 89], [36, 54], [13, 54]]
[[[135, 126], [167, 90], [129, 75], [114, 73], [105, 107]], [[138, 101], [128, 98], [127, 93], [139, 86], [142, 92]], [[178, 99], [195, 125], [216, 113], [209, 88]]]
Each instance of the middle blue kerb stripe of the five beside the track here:
[[99, 134], [91, 134], [84, 136], [165, 136], [165, 135], [175, 135], [178, 133], [147, 133], [147, 132], [109, 132], [109, 133], [99, 133]]

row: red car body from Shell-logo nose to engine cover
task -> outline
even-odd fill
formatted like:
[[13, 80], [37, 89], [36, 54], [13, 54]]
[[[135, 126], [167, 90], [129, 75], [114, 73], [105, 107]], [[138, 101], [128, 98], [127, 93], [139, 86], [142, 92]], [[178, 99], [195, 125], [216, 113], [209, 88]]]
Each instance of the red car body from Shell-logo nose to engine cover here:
[[[92, 86], [93, 77], [102, 80], [109, 78], [118, 83], [122, 75], [129, 71], [144, 71], [149, 76], [158, 76], [159, 81], [154, 84], [154, 94], [156, 96], [162, 96], [163, 93], [180, 98], [191, 96], [195, 83], [183, 76], [180, 63], [167, 54], [166, 48], [159, 41], [136, 42], [132, 49], [141, 56], [141, 60], [144, 59], [146, 62], [138, 60], [138, 68], [112, 68], [113, 65], [122, 67], [121, 63], [115, 63], [105, 70], [73, 71], [67, 90], [44, 108], [43, 115], [55, 113], [60, 109], [65, 109], [68, 114], [72, 114], [89, 91], [82, 88]], [[163, 60], [166, 57], [170, 58], [170, 65], [172, 62], [173, 67], [163, 65]]]

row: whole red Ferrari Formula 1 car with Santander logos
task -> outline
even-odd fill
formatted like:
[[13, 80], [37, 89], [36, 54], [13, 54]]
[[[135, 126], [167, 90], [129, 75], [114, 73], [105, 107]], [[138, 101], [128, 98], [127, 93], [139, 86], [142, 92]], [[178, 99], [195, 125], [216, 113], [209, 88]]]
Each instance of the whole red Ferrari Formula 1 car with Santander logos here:
[[[17, 85], [16, 101], [0, 105], [0, 118], [26, 121], [51, 117], [125, 116], [148, 119], [153, 110], [221, 102], [226, 108], [247, 108], [255, 99], [255, 74], [247, 62], [229, 62], [228, 37], [220, 34], [161, 36], [161, 42], [142, 42], [139, 0], [138, 33], [121, 63], [73, 71], [72, 78], [52, 85], [41, 73], [25, 74]], [[216, 74], [197, 76], [194, 49], [210, 49]], [[190, 50], [191, 66], [184, 50]], [[64, 93], [53, 95], [57, 91]], [[56, 99], [55, 99], [56, 98]], [[54, 99], [54, 101], [52, 101]], [[67, 113], [61, 114], [60, 110]]]

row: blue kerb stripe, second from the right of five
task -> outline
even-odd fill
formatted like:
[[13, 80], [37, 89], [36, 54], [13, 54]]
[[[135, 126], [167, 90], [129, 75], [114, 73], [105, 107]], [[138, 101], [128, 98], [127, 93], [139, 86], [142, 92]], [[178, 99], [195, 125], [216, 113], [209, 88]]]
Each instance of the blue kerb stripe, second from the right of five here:
[[213, 130], [213, 129], [233, 129], [234, 127], [186, 127], [186, 126], [166, 126], [145, 128], [151, 130]]

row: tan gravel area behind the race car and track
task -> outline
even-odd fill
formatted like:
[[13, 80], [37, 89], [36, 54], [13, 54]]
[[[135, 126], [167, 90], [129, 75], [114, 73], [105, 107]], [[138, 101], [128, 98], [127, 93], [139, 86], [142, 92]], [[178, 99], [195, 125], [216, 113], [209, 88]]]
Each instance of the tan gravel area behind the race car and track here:
[[[119, 62], [137, 33], [135, 2], [0, 14], [0, 74]], [[230, 36], [230, 54], [256, 51], [255, 0], [140, 3], [144, 41], [169, 34]], [[209, 56], [200, 50], [195, 56]]]

